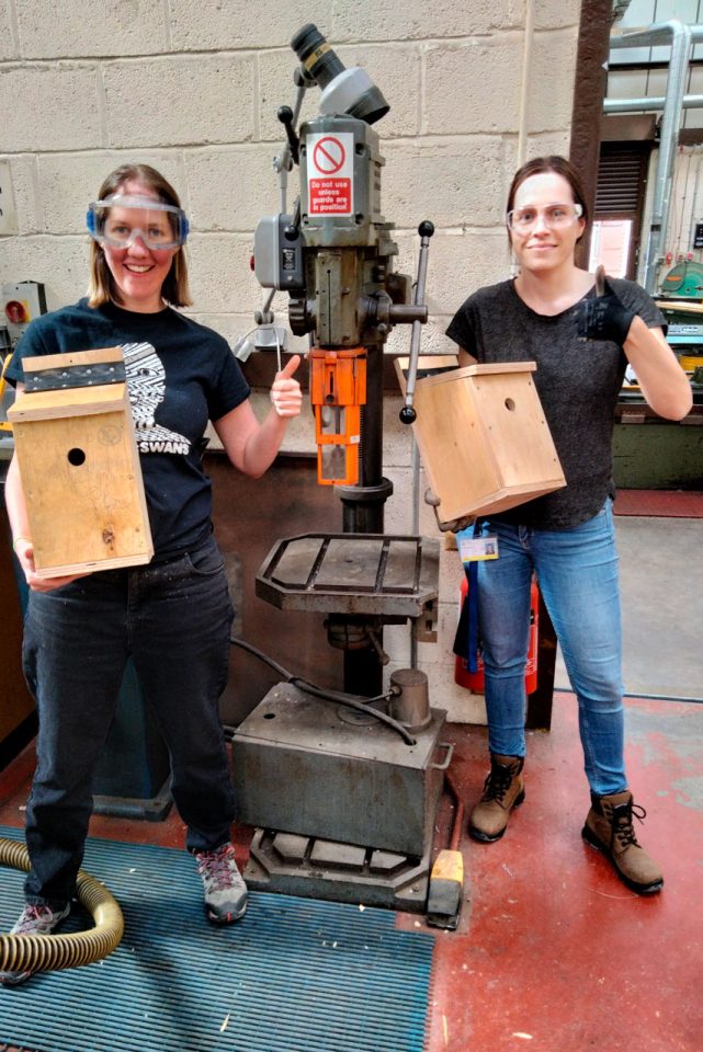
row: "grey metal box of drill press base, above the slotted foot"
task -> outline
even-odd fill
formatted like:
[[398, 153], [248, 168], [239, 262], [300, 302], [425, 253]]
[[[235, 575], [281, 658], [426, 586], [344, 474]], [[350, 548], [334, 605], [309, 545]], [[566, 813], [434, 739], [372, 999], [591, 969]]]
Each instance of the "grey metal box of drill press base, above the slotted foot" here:
[[233, 739], [237, 821], [420, 858], [451, 756], [446, 713], [429, 716], [406, 741], [372, 708], [277, 684]]

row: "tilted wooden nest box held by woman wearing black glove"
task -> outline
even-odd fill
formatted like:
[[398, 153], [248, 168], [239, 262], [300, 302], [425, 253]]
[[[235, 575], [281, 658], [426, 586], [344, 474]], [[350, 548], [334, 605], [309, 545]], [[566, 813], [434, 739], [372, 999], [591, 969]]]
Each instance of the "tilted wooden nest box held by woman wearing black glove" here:
[[[429, 375], [433, 365], [426, 355], [418, 368], [412, 428], [442, 524], [503, 512], [566, 485], [533, 382], [534, 362]], [[407, 367], [407, 358], [397, 359], [404, 391]]]

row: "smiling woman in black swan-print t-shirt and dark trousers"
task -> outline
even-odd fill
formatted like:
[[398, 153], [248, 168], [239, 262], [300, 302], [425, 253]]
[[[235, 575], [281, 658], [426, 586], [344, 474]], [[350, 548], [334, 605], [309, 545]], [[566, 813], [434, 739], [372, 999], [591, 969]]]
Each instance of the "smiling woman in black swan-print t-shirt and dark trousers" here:
[[[294, 355], [276, 375], [271, 410], [259, 423], [226, 341], [173, 309], [191, 302], [189, 225], [159, 172], [145, 164], [114, 171], [90, 206], [88, 229], [89, 298], [32, 322], [8, 377], [22, 389], [27, 356], [122, 346], [155, 554], [144, 567], [38, 576], [13, 458], [5, 501], [30, 587], [23, 666], [39, 717], [26, 808], [32, 868], [12, 929], [22, 935], [48, 934], [70, 911], [93, 773], [128, 656], [169, 748], [171, 792], [207, 917], [224, 924], [243, 915], [247, 889], [230, 843], [234, 793], [218, 714], [233, 609], [201, 454], [212, 421], [233, 465], [258, 478], [302, 405]], [[5, 972], [0, 981], [27, 977]]]

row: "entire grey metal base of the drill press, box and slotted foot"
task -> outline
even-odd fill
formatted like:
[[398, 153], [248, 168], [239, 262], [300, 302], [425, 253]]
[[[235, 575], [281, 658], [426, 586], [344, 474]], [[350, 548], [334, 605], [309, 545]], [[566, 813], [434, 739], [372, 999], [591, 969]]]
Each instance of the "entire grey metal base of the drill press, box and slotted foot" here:
[[[411, 709], [413, 675], [400, 679]], [[406, 740], [371, 707], [272, 687], [233, 740], [237, 817], [257, 828], [249, 887], [423, 913], [445, 714], [428, 707]]]

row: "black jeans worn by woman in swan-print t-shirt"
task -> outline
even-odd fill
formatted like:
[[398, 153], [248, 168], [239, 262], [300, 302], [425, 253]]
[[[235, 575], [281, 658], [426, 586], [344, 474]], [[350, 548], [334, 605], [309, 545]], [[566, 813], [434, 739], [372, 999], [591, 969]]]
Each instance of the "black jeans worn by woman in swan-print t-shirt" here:
[[218, 699], [231, 619], [213, 539], [167, 562], [31, 593], [23, 663], [39, 732], [26, 809], [27, 902], [56, 907], [75, 894], [93, 775], [129, 654], [169, 750], [186, 847], [208, 850], [229, 839], [235, 801]]

